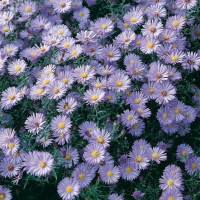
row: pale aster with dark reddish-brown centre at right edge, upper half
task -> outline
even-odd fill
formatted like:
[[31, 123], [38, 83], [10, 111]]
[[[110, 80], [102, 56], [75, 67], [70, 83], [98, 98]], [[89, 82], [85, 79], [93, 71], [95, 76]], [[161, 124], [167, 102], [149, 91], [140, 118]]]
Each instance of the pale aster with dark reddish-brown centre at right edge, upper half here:
[[184, 69], [189, 69], [191, 71], [195, 69], [198, 71], [200, 66], [200, 56], [194, 52], [187, 52], [181, 64]]

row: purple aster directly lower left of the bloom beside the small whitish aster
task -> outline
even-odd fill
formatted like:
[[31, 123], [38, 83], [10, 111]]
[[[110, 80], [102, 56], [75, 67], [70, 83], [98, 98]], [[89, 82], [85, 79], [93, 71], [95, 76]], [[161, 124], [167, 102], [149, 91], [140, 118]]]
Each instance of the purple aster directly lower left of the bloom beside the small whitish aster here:
[[130, 160], [125, 161], [119, 166], [119, 171], [121, 173], [121, 176], [124, 180], [132, 181], [136, 179], [140, 171], [137, 169], [135, 165], [130, 163]]

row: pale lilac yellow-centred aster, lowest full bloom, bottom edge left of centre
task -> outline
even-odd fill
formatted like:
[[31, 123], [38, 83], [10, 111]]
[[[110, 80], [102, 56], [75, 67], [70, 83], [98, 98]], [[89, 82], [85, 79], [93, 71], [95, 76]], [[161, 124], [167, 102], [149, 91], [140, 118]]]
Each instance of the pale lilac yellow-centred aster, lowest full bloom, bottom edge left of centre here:
[[63, 200], [73, 200], [79, 193], [79, 183], [73, 178], [66, 177], [58, 184], [58, 194]]

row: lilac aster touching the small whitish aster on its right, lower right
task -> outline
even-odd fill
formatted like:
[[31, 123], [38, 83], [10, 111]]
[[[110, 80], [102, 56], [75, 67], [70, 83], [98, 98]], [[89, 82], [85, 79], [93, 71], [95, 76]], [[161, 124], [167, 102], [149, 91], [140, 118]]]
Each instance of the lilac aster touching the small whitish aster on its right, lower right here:
[[133, 149], [129, 153], [130, 163], [135, 165], [137, 169], [146, 169], [149, 166], [149, 159], [144, 150]]

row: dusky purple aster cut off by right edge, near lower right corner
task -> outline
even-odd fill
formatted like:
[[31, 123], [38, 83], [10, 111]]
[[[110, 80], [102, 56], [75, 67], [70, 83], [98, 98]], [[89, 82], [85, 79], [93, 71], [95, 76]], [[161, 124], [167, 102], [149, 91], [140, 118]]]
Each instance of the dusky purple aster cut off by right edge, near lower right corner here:
[[200, 171], [200, 157], [192, 156], [185, 164], [185, 170], [192, 176], [195, 172]]

